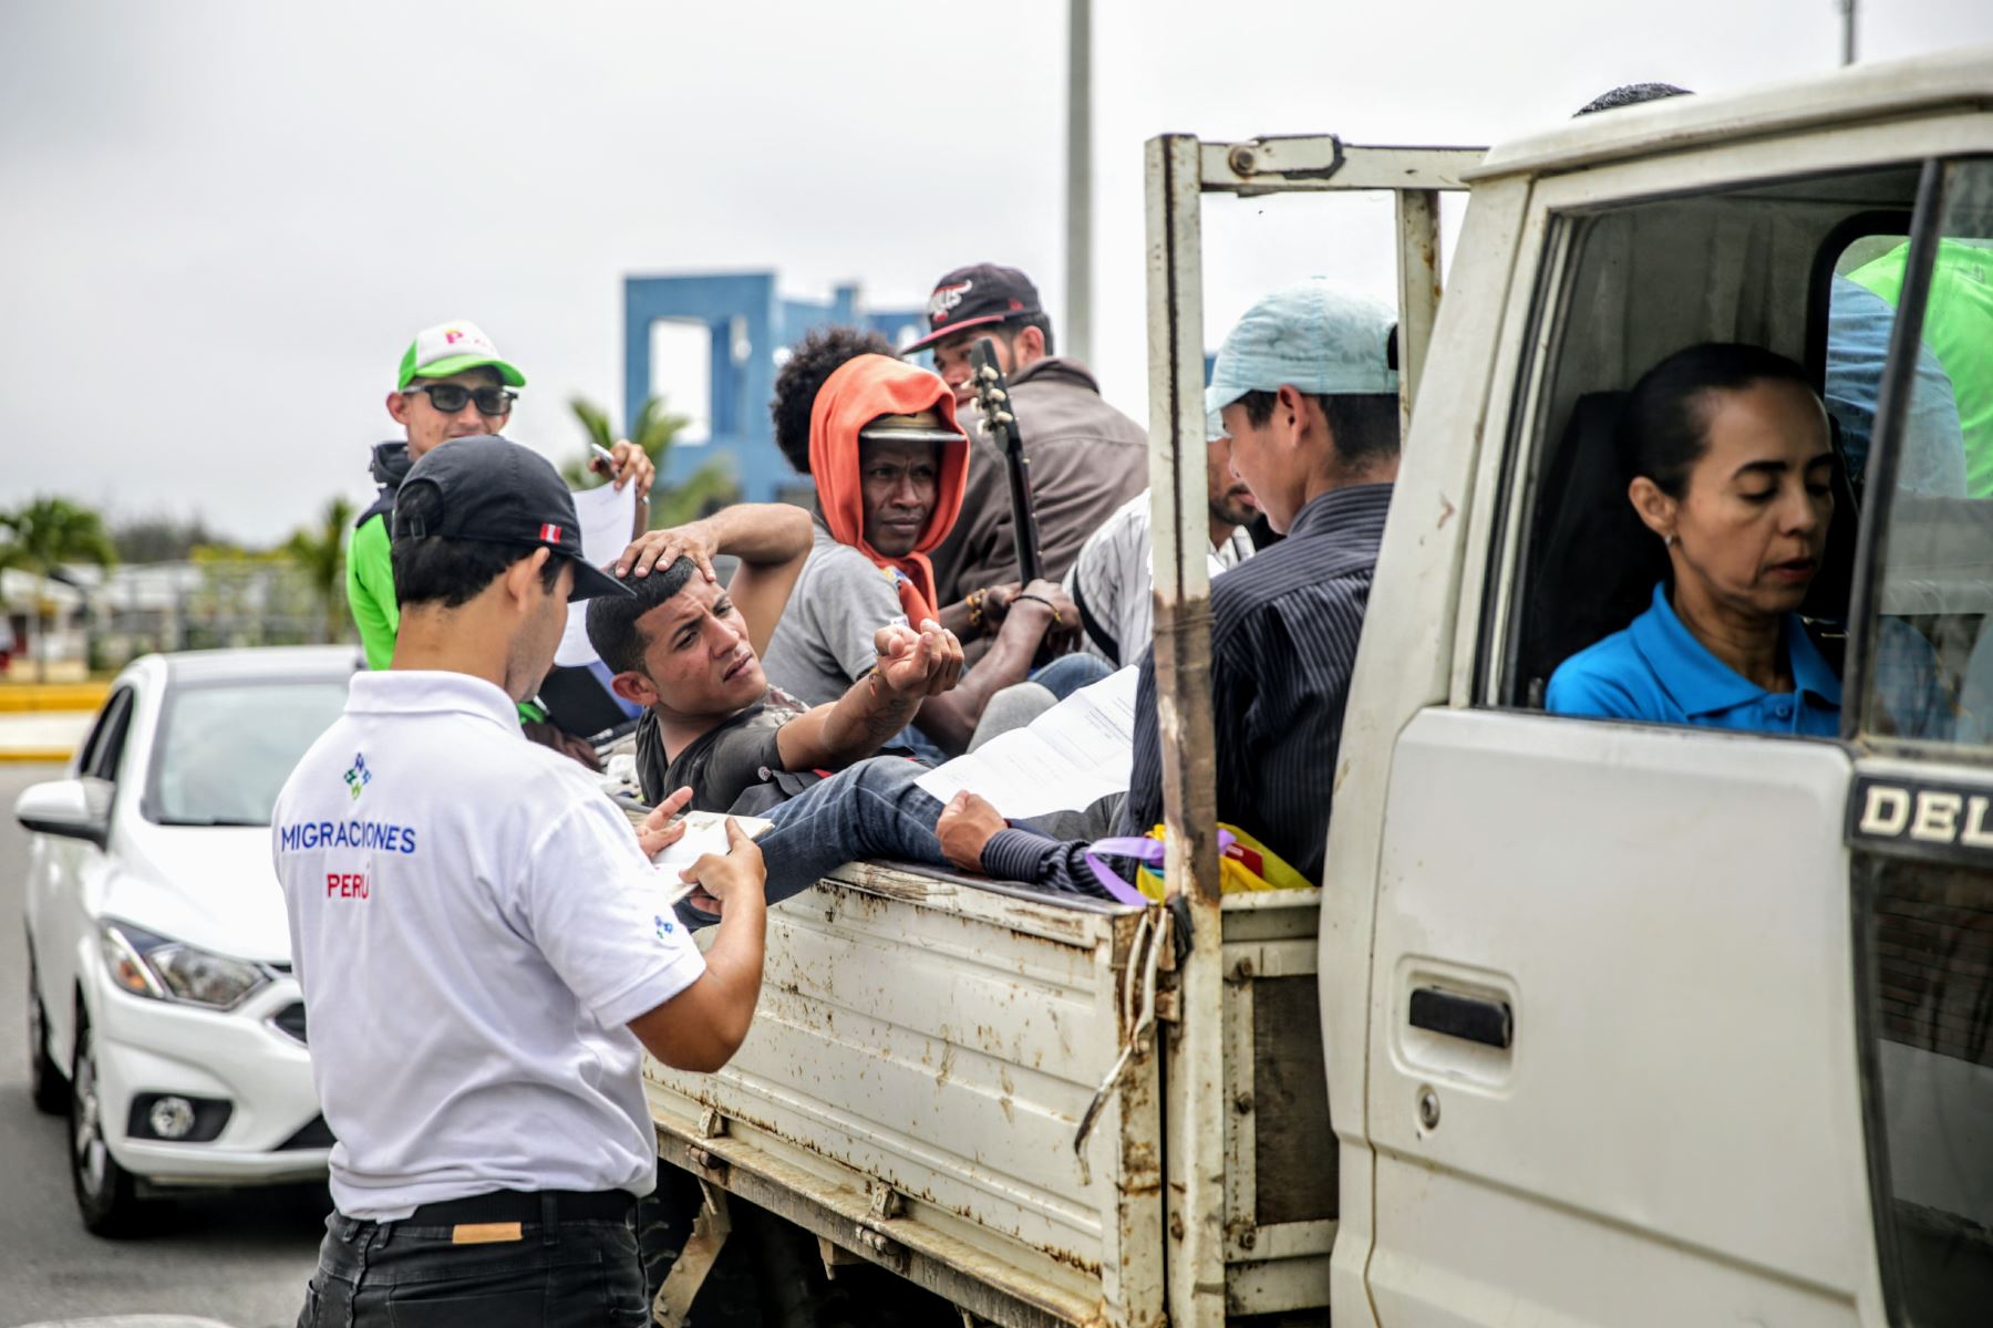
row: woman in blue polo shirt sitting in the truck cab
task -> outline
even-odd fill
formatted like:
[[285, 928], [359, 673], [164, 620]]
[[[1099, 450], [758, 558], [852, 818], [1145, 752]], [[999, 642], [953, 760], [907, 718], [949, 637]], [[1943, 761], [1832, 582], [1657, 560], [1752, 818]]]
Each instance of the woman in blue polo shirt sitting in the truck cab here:
[[1842, 683], [1798, 615], [1834, 518], [1834, 442], [1806, 370], [1760, 346], [1690, 346], [1634, 384], [1618, 442], [1670, 573], [1624, 631], [1559, 665], [1547, 707], [1838, 735]]

